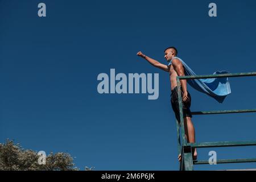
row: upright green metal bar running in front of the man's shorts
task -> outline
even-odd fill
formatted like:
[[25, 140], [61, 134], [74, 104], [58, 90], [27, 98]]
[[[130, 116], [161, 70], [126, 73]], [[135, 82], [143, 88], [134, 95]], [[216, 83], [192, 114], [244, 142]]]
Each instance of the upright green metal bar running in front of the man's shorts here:
[[187, 145], [187, 140], [185, 139], [183, 105], [182, 105], [181, 90], [180, 90], [180, 80], [179, 80], [178, 77], [177, 77], [177, 91], [178, 91], [178, 100], [179, 100], [180, 127], [181, 127], [182, 144], [183, 144], [183, 146], [186, 146]]

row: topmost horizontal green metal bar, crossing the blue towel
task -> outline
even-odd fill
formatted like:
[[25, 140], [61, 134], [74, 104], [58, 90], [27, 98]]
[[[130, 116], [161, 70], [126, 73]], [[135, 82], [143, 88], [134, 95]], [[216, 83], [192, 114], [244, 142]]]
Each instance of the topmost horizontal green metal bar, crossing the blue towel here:
[[177, 76], [180, 80], [200, 79], [200, 78], [220, 78], [220, 77], [243, 77], [243, 76], [256, 76], [256, 72], [249, 73], [226, 73], [216, 75], [196, 75], [196, 76]]

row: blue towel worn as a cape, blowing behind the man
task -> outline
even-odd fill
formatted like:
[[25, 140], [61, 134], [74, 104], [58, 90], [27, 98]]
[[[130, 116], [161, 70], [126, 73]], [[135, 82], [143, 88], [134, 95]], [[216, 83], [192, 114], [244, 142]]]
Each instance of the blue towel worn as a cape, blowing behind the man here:
[[[174, 57], [174, 59], [179, 59], [184, 66], [184, 73], [185, 76], [195, 76], [196, 73], [192, 71], [191, 68], [188, 67], [187, 64], [184, 63], [179, 57]], [[172, 64], [172, 60], [168, 64]], [[216, 71], [213, 75], [216, 74], [225, 74], [229, 73], [227, 71]], [[199, 92], [203, 92], [210, 97], [213, 97], [219, 103], [222, 103], [228, 94], [231, 93], [230, 85], [228, 77], [221, 77], [221, 78], [201, 78], [201, 79], [189, 79], [187, 80], [188, 84], [192, 86], [194, 89], [198, 90]]]

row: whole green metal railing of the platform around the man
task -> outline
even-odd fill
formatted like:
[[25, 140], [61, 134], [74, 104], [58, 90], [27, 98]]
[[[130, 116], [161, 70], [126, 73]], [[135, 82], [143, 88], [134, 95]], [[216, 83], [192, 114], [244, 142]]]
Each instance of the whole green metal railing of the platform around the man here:
[[[178, 152], [179, 152], [179, 154], [181, 155], [181, 158], [182, 158], [181, 162], [180, 162], [180, 170], [192, 171], [194, 164], [209, 164], [208, 160], [193, 161], [192, 148], [194, 148], [194, 147], [195, 148], [205, 148], [205, 147], [256, 146], [256, 140], [253, 140], [253, 141], [238, 141], [238, 142], [188, 143], [187, 139], [185, 139], [180, 80], [200, 79], [200, 78], [220, 78], [220, 77], [243, 77], [243, 76], [256, 76], [256, 72], [227, 73], [227, 74], [219, 74], [219, 75], [177, 76], [177, 91], [178, 91], [178, 98], [179, 98], [180, 124], [176, 119], [176, 126], [177, 126]], [[256, 112], [256, 109], [196, 111], [196, 112], [192, 112], [192, 115], [252, 113], [252, 112]], [[180, 131], [181, 131], [181, 139], [180, 139]], [[181, 141], [182, 141], [182, 143], [181, 143]], [[256, 162], [256, 158], [255, 159], [224, 159], [224, 160], [217, 160], [217, 163], [249, 163], [249, 162]]]

